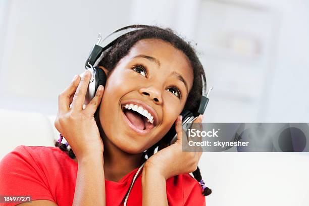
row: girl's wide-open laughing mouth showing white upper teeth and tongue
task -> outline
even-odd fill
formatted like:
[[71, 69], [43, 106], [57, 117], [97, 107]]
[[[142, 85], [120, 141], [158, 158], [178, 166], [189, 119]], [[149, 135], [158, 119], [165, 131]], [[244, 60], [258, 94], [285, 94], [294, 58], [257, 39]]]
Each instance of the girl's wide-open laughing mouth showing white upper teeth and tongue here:
[[139, 133], [147, 133], [155, 125], [152, 115], [143, 107], [135, 104], [121, 106], [128, 125]]

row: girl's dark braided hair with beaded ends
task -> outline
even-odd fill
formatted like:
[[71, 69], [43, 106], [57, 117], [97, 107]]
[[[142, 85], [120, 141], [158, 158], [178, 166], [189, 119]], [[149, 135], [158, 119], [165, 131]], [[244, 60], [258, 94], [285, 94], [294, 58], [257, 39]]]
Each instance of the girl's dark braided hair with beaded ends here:
[[[118, 62], [124, 58], [130, 51], [130, 48], [141, 39], [160, 39], [172, 44], [175, 48], [181, 50], [189, 59], [191, 67], [193, 69], [193, 85], [188, 94], [188, 98], [186, 104], [184, 106], [184, 110], [197, 111], [200, 98], [202, 95], [202, 81], [201, 75], [204, 75], [204, 69], [196, 56], [195, 49], [191, 46], [190, 42], [186, 42], [179, 35], [177, 35], [170, 28], [161, 28], [158, 26], [150, 26], [145, 29], [140, 29], [136, 31], [132, 31], [127, 33], [117, 39], [115, 44], [113, 44], [101, 57], [96, 61], [95, 66], [103, 66], [109, 72], [111, 72]], [[98, 111], [98, 110], [97, 110]], [[95, 113], [94, 117], [96, 119]], [[59, 140], [55, 142], [55, 146], [59, 147], [62, 151], [65, 151], [70, 158], [75, 159], [74, 152], [68, 143], [62, 143], [63, 136], [61, 135]], [[143, 159], [141, 162], [145, 162], [148, 158], [150, 158], [155, 150], [157, 151], [168, 146], [162, 138], [159, 142], [152, 145], [146, 151], [143, 152]], [[212, 193], [212, 190], [208, 187], [204, 186], [204, 182], [201, 178], [201, 174], [199, 168], [192, 173], [194, 178], [199, 182], [202, 187], [202, 194], [207, 196]]]

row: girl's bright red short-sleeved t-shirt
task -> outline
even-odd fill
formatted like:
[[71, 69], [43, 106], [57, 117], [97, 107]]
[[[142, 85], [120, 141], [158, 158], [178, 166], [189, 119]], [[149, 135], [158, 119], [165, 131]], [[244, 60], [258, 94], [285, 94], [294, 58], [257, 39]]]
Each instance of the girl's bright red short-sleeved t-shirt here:
[[[0, 162], [0, 195], [31, 196], [60, 206], [72, 205], [77, 163], [58, 147], [17, 146]], [[106, 205], [123, 205], [123, 199], [138, 168], [118, 182], [105, 180]], [[205, 205], [199, 183], [189, 174], [166, 181], [169, 205]], [[141, 205], [141, 173], [130, 192], [127, 205]], [[0, 203], [16, 205], [18, 203]]]

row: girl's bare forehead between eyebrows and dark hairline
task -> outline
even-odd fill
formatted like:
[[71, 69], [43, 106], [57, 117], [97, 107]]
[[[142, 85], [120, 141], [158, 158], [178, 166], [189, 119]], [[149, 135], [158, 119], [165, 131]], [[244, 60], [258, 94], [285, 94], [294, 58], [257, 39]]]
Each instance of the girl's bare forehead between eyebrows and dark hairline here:
[[130, 49], [128, 60], [138, 55], [156, 58], [160, 67], [170, 72], [177, 71], [185, 78], [188, 87], [193, 84], [193, 70], [188, 57], [169, 42], [161, 39], [142, 39], [137, 41]]

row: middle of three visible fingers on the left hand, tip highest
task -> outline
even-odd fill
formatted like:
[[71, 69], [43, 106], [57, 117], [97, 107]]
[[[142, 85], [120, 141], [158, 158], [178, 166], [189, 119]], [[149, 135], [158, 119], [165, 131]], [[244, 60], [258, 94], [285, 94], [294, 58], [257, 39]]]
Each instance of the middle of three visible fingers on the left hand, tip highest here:
[[88, 89], [88, 85], [90, 82], [91, 73], [90, 71], [86, 70], [83, 77], [81, 78], [79, 85], [76, 89], [76, 92], [73, 97], [72, 101], [72, 109], [73, 110], [82, 110], [83, 104], [85, 101], [85, 95]]

